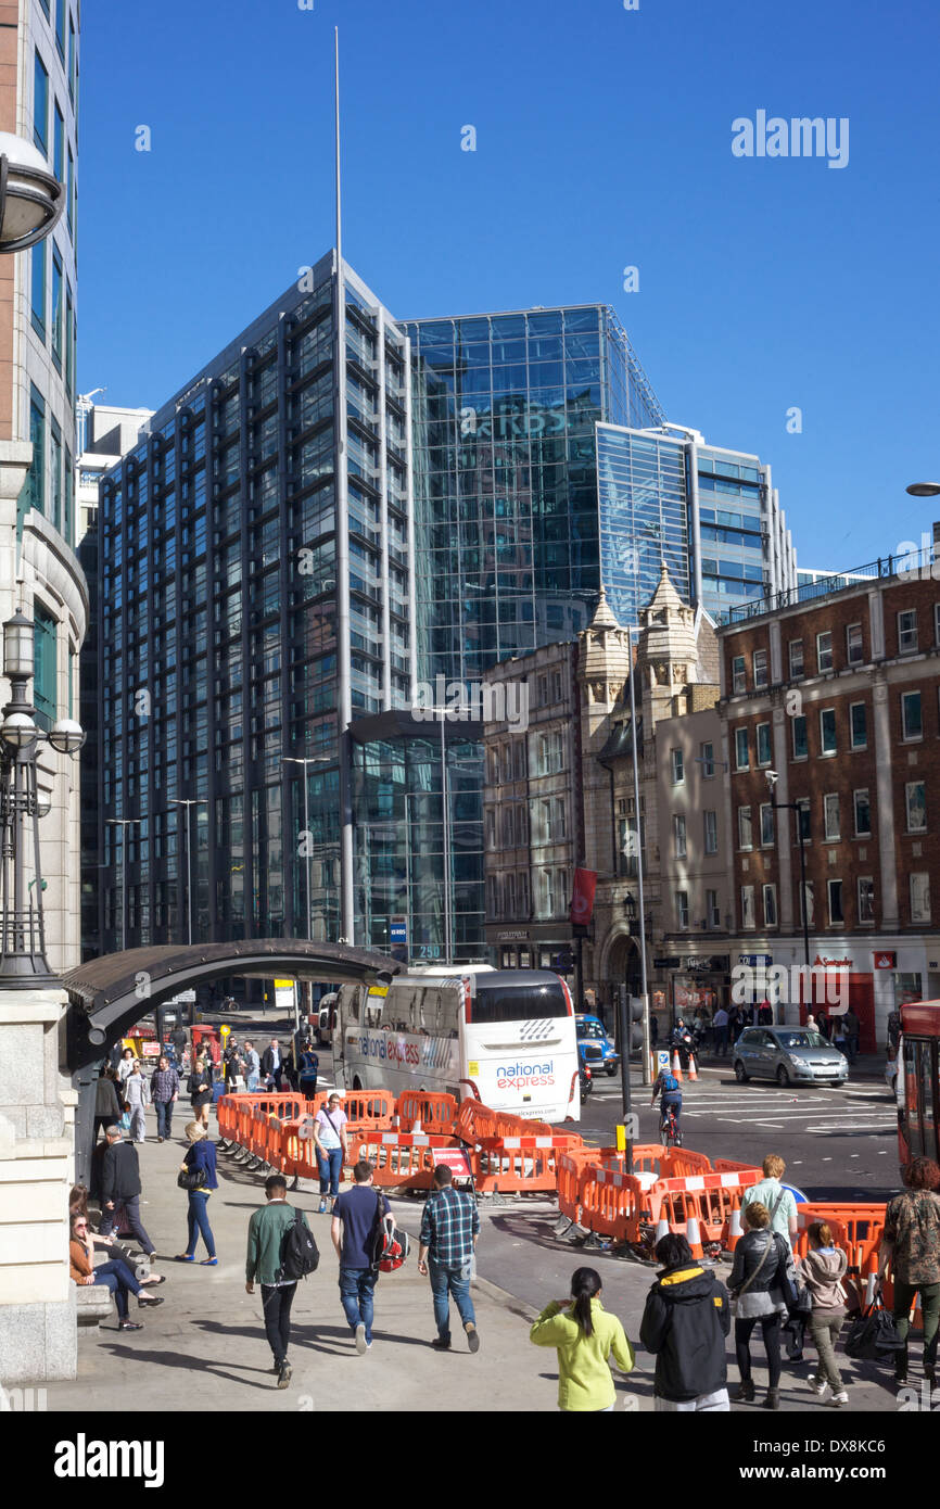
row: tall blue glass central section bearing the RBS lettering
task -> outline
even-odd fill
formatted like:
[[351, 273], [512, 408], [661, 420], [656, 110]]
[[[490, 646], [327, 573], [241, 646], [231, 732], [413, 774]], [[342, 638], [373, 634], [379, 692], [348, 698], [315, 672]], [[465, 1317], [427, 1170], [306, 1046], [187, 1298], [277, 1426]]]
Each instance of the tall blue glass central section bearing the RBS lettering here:
[[599, 421], [662, 410], [605, 305], [413, 320], [418, 661], [433, 681], [572, 638], [601, 585]]

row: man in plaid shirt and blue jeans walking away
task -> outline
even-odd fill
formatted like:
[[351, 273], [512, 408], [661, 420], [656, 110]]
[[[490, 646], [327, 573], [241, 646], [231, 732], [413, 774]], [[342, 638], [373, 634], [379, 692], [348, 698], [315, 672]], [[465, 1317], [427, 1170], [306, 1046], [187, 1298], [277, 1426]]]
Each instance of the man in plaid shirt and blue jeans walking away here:
[[475, 1198], [454, 1189], [450, 1168], [447, 1163], [438, 1163], [435, 1192], [427, 1198], [421, 1221], [418, 1272], [430, 1272], [438, 1323], [438, 1335], [432, 1346], [439, 1352], [447, 1352], [451, 1345], [451, 1295], [466, 1331], [466, 1345], [471, 1352], [480, 1351], [477, 1314], [469, 1296], [471, 1265], [478, 1234], [480, 1212]]

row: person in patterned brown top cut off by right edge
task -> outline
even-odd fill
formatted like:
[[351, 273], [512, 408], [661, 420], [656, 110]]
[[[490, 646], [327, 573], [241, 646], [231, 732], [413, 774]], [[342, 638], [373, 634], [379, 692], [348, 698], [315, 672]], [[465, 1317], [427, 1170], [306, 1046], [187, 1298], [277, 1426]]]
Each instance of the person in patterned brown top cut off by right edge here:
[[895, 1354], [895, 1382], [907, 1382], [910, 1310], [920, 1295], [923, 1316], [923, 1376], [937, 1382], [940, 1329], [940, 1168], [932, 1157], [913, 1157], [902, 1169], [902, 1195], [889, 1201], [878, 1252], [878, 1277], [895, 1277], [895, 1325], [904, 1343]]

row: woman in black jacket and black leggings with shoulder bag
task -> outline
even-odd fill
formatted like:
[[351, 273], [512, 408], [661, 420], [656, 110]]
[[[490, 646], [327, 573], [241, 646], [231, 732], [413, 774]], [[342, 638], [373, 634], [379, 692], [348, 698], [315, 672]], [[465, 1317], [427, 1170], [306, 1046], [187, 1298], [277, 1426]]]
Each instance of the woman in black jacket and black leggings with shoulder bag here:
[[[741, 1382], [732, 1399], [754, 1402], [751, 1378], [751, 1331], [760, 1322], [766, 1352], [768, 1388], [765, 1409], [780, 1408], [780, 1332], [786, 1316], [783, 1286], [791, 1265], [791, 1249], [783, 1236], [771, 1228], [771, 1213], [759, 1200], [744, 1206], [747, 1233], [735, 1248], [729, 1290], [735, 1301], [735, 1355]], [[773, 1290], [773, 1292], [771, 1292]]]

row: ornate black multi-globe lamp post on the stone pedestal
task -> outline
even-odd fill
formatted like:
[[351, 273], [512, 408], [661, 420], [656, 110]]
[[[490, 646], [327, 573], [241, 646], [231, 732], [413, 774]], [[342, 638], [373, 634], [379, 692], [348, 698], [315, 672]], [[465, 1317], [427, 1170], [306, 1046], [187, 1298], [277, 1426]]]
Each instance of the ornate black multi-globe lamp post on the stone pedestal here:
[[[3, 134], [0, 133], [0, 146]], [[0, 210], [3, 204], [3, 157], [0, 157]], [[0, 240], [0, 249], [2, 249]], [[36, 791], [36, 756], [45, 741], [60, 754], [75, 754], [84, 744], [81, 727], [71, 718], [59, 720], [48, 733], [33, 721], [29, 699], [33, 676], [33, 623], [17, 611], [3, 625], [3, 675], [11, 684], [11, 700], [0, 724], [0, 990], [56, 982], [45, 960], [45, 922], [42, 916], [42, 866], [39, 862], [39, 818], [42, 807]], [[26, 853], [33, 847], [33, 880], [26, 880]], [[35, 889], [35, 904], [32, 892]]]

